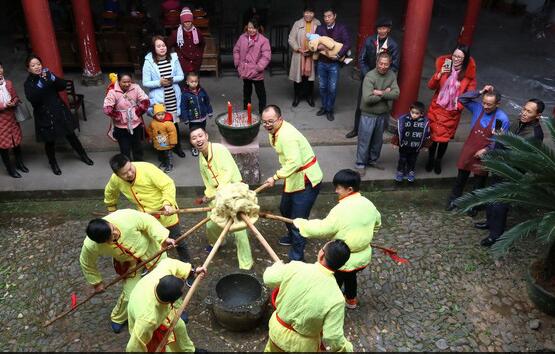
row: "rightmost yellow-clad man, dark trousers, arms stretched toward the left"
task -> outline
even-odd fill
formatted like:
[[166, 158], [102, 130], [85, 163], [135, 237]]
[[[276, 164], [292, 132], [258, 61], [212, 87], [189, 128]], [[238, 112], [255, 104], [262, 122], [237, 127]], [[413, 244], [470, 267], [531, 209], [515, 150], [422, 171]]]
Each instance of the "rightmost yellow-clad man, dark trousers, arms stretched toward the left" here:
[[380, 228], [381, 215], [371, 201], [359, 193], [360, 175], [353, 170], [341, 170], [333, 176], [339, 203], [323, 220], [295, 219], [295, 226], [307, 238], [344, 241], [351, 257], [335, 272], [339, 288], [345, 285], [347, 308], [357, 307], [357, 273], [370, 264], [374, 232]]

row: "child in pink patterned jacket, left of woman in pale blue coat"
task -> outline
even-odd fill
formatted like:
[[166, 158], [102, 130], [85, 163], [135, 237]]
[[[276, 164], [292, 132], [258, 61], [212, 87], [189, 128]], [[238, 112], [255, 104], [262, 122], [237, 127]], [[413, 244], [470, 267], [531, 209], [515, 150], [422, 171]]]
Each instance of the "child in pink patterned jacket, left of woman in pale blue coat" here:
[[[113, 136], [122, 154], [132, 161], [143, 160], [141, 142], [145, 136], [142, 115], [150, 105], [147, 94], [132, 82], [131, 74], [118, 75], [104, 99], [104, 113], [112, 118]], [[133, 152], [133, 157], [131, 157]]]

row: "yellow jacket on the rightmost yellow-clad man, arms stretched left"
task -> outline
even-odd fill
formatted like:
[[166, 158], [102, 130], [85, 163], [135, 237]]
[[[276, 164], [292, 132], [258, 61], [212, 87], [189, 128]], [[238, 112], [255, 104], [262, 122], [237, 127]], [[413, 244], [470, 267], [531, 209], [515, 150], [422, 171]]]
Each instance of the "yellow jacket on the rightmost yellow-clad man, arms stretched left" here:
[[372, 258], [370, 242], [381, 224], [380, 212], [360, 193], [341, 200], [324, 219], [294, 220], [299, 232], [306, 238], [324, 238], [345, 241], [351, 257], [341, 271], [354, 271], [366, 267]]

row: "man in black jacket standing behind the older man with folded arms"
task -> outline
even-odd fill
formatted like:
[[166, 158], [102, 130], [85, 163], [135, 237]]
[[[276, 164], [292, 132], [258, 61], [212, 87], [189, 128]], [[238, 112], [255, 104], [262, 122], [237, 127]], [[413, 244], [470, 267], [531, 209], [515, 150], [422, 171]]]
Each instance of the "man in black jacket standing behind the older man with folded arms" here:
[[358, 92], [357, 108], [355, 111], [355, 126], [353, 130], [345, 135], [346, 138], [354, 138], [358, 135], [358, 124], [360, 122], [360, 97], [362, 94], [362, 83], [366, 74], [376, 67], [376, 59], [381, 52], [391, 55], [391, 70], [399, 72], [399, 45], [389, 36], [393, 22], [388, 18], [380, 18], [376, 22], [376, 34], [369, 36], [361, 48], [358, 63], [360, 66], [360, 89]]

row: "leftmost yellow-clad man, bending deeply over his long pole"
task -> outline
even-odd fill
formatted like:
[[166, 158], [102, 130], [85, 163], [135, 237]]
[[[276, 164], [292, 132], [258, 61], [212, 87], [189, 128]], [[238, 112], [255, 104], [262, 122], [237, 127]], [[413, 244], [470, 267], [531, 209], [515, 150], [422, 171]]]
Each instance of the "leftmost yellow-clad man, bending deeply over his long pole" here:
[[[133, 209], [121, 209], [102, 219], [93, 219], [87, 226], [87, 237], [81, 248], [81, 271], [94, 291], [102, 292], [104, 283], [97, 266], [99, 257], [112, 257], [116, 273], [123, 275], [154, 256], [162, 247], [175, 246], [168, 234], [168, 229], [153, 216]], [[164, 258], [166, 254], [162, 253], [147, 263], [146, 271], [154, 269]], [[123, 280], [123, 291], [110, 316], [115, 333], [121, 332], [127, 321], [129, 295], [140, 278], [141, 271], [137, 271]]]

